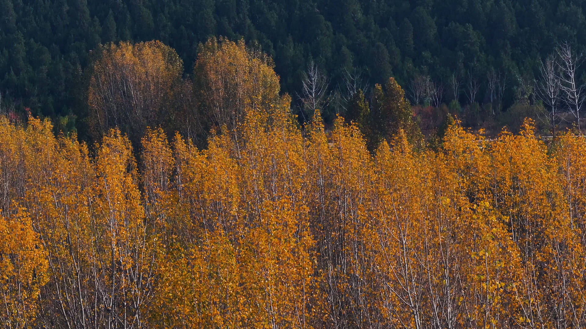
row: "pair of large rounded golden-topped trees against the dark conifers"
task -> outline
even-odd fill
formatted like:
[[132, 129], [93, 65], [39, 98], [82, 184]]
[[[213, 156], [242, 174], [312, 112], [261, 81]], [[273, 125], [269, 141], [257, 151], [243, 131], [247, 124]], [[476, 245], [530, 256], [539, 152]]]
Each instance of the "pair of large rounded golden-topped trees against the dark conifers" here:
[[117, 127], [136, 145], [147, 126], [162, 126], [202, 142], [213, 126], [236, 128], [245, 108], [280, 100], [270, 57], [243, 40], [212, 38], [199, 48], [193, 78], [183, 79], [182, 60], [161, 42], [101, 46], [88, 88], [93, 137]]

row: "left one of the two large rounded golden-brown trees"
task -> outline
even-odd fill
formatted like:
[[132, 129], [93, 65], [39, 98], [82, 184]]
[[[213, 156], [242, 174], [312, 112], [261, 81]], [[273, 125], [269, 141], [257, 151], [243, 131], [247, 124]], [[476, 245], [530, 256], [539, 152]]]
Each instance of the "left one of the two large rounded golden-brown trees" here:
[[101, 47], [88, 90], [94, 134], [118, 126], [137, 140], [147, 125], [172, 114], [172, 97], [181, 85], [183, 63], [158, 41], [120, 42]]

